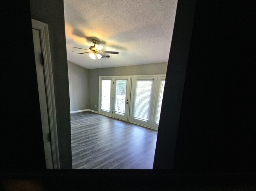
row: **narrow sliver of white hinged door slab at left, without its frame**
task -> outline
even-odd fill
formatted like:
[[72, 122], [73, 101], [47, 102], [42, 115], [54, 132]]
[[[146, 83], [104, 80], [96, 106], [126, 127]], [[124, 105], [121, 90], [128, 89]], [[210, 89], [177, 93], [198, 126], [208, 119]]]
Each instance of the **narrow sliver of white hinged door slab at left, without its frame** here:
[[40, 32], [39, 30], [33, 29], [33, 42], [35, 50], [35, 65], [37, 71], [37, 84], [38, 84], [38, 93], [39, 93], [39, 102], [40, 102], [40, 111], [41, 111], [41, 121], [43, 128], [43, 141], [45, 148], [45, 161], [46, 169], [53, 168], [52, 162], [52, 149], [50, 142], [50, 130], [49, 130], [49, 120], [48, 120], [48, 109], [47, 109], [47, 100], [46, 100], [46, 91], [45, 91], [45, 76], [42, 63], [42, 51], [40, 43]]

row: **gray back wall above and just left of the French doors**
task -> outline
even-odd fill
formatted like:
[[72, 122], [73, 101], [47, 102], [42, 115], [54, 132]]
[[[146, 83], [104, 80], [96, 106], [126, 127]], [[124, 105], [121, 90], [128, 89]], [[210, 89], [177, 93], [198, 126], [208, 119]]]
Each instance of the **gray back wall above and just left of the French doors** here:
[[[89, 109], [98, 111], [99, 76], [166, 74], [167, 62], [89, 69]], [[97, 106], [95, 108], [95, 105]]]

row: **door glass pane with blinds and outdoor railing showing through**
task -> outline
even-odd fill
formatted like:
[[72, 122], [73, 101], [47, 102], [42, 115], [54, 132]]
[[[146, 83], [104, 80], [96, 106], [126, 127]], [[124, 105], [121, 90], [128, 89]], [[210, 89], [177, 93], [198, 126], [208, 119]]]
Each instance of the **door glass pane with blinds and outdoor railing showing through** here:
[[127, 80], [115, 80], [114, 112], [117, 115], [125, 114], [126, 86]]

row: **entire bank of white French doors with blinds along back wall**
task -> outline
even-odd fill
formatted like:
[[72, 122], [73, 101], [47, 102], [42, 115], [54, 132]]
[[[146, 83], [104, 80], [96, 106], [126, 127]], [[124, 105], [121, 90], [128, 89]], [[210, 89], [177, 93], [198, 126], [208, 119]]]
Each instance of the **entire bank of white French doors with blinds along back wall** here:
[[165, 75], [99, 76], [99, 82], [100, 114], [158, 129]]

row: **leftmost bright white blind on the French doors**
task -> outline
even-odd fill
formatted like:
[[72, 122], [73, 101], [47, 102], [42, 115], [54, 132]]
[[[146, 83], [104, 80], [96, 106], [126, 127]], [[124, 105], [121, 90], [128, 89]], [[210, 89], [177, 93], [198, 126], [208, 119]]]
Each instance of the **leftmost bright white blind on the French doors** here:
[[101, 81], [101, 106], [103, 111], [110, 111], [111, 80]]

